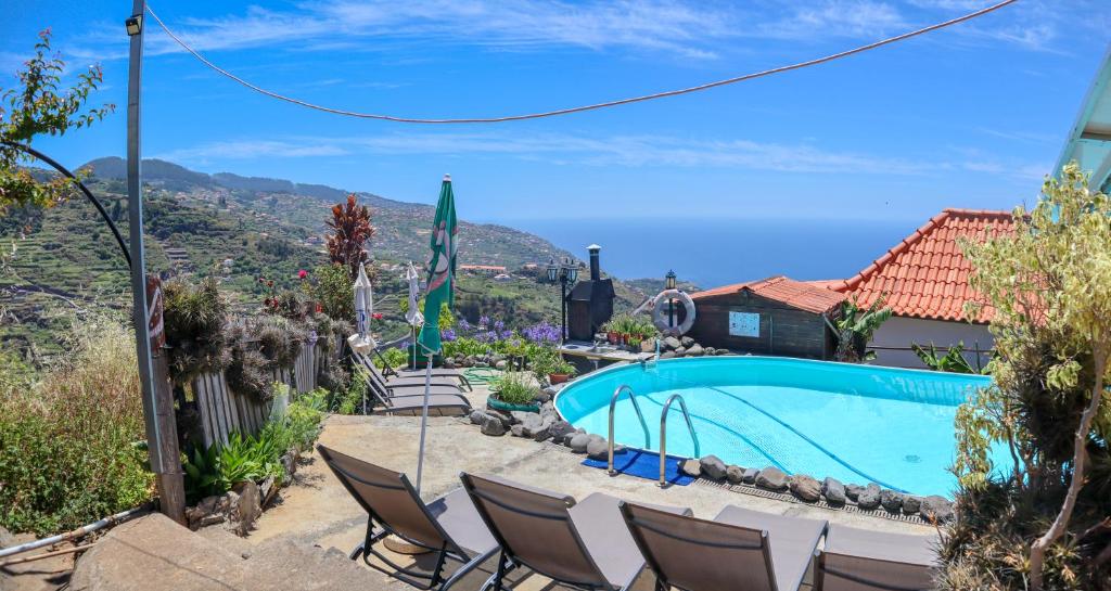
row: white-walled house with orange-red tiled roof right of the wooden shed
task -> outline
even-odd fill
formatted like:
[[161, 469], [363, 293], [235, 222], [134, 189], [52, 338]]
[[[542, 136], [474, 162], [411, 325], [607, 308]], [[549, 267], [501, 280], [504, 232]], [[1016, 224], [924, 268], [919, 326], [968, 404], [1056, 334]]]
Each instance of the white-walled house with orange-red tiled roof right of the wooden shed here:
[[[855, 276], [812, 284], [855, 298], [861, 307], [884, 298], [893, 315], [869, 344], [878, 364], [921, 368], [911, 344], [942, 349], [964, 343], [965, 358], [977, 367], [987, 363], [993, 345], [988, 331], [992, 309], [984, 307], [972, 317], [965, 313], [965, 302], [982, 299], [969, 286], [972, 266], [958, 240], [1013, 231], [1007, 211], [945, 209]], [[979, 360], [975, 349], [981, 351]]]

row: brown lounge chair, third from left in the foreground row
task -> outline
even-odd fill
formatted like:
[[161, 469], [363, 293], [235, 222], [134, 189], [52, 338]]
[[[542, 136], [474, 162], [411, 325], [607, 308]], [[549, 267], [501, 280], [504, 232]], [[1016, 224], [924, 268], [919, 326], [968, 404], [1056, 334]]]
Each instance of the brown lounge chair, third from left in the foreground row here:
[[795, 591], [827, 522], [727, 505], [712, 520], [621, 503], [657, 589]]

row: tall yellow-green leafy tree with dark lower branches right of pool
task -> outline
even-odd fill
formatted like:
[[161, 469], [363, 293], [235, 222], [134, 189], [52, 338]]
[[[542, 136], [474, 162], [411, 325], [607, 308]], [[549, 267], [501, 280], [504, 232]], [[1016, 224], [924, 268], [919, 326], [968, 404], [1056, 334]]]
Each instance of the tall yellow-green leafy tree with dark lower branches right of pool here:
[[963, 243], [997, 358], [994, 385], [958, 411], [944, 587], [1111, 589], [1111, 200], [1070, 163], [1014, 227]]

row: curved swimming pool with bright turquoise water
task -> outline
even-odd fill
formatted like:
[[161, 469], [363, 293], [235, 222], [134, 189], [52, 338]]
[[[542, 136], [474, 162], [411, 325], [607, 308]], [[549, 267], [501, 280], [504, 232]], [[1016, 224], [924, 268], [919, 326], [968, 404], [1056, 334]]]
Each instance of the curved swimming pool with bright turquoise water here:
[[[605, 435], [610, 397], [628, 384], [644, 413], [648, 441], [628, 394], [617, 404], [613, 439], [658, 451], [660, 413], [679, 393], [702, 455], [951, 497], [957, 407], [990, 383], [981, 375], [802, 359], [668, 359], [587, 375], [559, 393], [556, 408], [573, 425]], [[678, 402], [667, 437], [668, 454], [694, 455]], [[997, 459], [1000, 465], [1003, 458]]]

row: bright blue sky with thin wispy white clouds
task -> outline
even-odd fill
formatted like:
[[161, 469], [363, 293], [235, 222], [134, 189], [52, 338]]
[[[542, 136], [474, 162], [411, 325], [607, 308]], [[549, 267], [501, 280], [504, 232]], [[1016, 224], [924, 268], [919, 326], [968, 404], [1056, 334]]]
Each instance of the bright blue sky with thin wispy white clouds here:
[[[37, 146], [122, 156], [130, 2], [2, 0], [0, 86], [51, 27], [72, 73], [104, 67], [109, 120]], [[332, 107], [499, 116], [687, 87], [801, 61], [979, 9], [980, 0], [248, 3], [160, 0], [197, 49]], [[523, 218], [921, 219], [1031, 200], [1107, 49], [1111, 3], [1020, 0], [863, 56], [680, 98], [542, 121], [406, 126], [254, 94], [152, 20], [143, 153]]]

